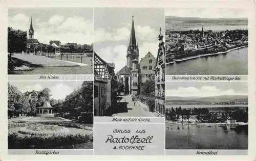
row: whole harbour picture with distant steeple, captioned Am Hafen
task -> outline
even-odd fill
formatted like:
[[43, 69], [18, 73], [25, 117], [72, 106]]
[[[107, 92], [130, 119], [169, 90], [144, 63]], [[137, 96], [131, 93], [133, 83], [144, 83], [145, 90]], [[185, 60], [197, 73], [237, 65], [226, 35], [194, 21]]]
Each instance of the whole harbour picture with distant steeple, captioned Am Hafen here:
[[8, 74], [92, 74], [93, 9], [10, 8]]

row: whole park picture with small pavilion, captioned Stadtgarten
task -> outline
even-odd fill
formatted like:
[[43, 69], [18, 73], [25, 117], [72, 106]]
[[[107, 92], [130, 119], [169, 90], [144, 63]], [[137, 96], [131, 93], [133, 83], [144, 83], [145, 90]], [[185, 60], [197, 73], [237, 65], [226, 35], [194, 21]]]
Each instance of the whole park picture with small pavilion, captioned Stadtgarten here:
[[93, 82], [8, 82], [8, 149], [93, 149]]

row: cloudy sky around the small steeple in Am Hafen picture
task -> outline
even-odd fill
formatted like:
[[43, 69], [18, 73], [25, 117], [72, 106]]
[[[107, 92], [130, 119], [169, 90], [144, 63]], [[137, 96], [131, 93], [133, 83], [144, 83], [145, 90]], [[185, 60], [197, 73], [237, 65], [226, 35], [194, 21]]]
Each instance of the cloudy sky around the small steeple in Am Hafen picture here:
[[9, 8], [9, 26], [28, 32], [31, 16], [34, 38], [41, 43], [94, 41], [93, 8]]

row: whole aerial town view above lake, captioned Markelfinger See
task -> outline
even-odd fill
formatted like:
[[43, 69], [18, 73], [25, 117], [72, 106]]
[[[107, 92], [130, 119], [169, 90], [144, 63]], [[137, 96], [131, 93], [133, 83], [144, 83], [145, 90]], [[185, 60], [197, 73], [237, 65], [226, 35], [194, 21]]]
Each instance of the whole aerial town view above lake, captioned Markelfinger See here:
[[166, 74], [248, 74], [248, 19], [198, 11], [166, 10]]

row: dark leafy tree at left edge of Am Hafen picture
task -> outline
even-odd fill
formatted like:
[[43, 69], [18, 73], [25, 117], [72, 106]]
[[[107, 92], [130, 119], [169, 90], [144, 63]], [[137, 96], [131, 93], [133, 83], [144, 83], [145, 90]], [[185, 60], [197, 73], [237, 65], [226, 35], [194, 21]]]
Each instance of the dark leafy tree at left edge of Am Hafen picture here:
[[22, 52], [26, 50], [27, 32], [8, 27], [8, 52]]

